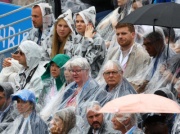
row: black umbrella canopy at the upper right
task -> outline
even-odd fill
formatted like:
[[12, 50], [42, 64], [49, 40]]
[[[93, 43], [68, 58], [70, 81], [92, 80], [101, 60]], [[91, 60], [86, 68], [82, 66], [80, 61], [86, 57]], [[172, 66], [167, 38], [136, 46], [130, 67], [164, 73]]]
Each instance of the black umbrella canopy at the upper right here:
[[180, 4], [168, 2], [145, 5], [130, 13], [120, 22], [180, 28]]

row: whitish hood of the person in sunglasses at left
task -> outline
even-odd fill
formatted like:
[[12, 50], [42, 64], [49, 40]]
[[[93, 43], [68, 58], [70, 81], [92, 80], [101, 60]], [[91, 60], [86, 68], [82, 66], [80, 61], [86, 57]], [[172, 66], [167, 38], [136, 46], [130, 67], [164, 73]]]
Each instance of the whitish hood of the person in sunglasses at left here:
[[19, 49], [25, 54], [27, 66], [30, 69], [35, 68], [41, 60], [41, 49], [33, 41], [26, 40], [21, 42]]

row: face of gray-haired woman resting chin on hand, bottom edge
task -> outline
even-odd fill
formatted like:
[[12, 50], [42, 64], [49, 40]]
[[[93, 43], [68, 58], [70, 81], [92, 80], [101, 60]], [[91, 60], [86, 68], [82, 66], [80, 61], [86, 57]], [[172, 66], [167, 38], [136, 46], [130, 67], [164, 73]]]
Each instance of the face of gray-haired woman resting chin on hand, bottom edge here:
[[53, 120], [50, 122], [50, 125], [51, 125], [50, 131], [52, 134], [61, 134], [62, 133], [64, 124], [63, 124], [63, 120], [61, 118], [59, 118], [58, 116], [55, 116], [53, 118]]

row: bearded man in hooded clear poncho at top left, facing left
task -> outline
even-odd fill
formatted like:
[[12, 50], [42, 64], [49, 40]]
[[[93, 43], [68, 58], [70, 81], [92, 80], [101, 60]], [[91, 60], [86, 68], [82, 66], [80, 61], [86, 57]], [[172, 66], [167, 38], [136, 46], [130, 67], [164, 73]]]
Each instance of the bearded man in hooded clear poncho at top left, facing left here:
[[43, 41], [48, 37], [54, 23], [52, 7], [48, 3], [39, 3], [32, 7], [33, 28], [23, 40], [32, 40], [41, 46], [42, 60], [49, 60], [48, 47]]

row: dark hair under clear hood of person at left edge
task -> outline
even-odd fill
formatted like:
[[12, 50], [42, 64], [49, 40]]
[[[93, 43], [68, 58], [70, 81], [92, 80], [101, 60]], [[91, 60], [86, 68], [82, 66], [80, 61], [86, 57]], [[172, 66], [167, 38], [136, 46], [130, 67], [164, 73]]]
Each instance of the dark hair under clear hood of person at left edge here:
[[10, 82], [2, 82], [0, 83], [0, 91], [3, 91], [6, 99], [9, 99], [11, 95], [14, 93], [13, 83]]

